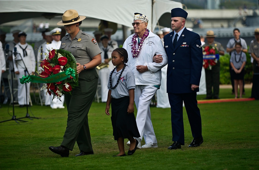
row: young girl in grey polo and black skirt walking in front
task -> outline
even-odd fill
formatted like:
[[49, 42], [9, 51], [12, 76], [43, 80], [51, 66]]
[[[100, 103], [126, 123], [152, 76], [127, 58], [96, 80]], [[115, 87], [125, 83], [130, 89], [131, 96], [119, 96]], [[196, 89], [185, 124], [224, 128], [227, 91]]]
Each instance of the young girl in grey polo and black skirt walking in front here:
[[112, 64], [116, 66], [110, 73], [108, 82], [108, 98], [105, 113], [110, 115], [112, 109], [112, 128], [114, 140], [117, 140], [120, 153], [114, 156], [126, 156], [124, 151], [124, 139], [130, 140], [128, 155], [132, 155], [137, 146], [139, 130], [134, 116], [134, 89], [135, 77], [126, 65], [128, 53], [124, 48], [116, 48], [112, 52]]

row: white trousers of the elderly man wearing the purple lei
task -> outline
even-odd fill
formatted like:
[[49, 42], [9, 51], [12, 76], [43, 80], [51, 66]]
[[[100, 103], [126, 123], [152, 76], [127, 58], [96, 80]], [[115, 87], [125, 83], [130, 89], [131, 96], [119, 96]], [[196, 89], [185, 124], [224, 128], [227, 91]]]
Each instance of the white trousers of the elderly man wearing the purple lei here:
[[157, 143], [154, 128], [151, 122], [150, 102], [156, 93], [157, 87], [152, 85], [137, 85], [135, 89], [135, 104], [138, 109], [136, 122], [140, 140], [144, 137], [146, 143]]

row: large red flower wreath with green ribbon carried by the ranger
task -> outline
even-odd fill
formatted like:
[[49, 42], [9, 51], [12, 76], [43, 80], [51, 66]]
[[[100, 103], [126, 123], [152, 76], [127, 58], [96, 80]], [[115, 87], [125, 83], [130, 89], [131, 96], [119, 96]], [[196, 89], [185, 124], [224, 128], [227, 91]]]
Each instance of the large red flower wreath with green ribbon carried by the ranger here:
[[40, 90], [47, 89], [49, 95], [53, 94], [53, 99], [60, 99], [63, 94], [71, 94], [71, 90], [78, 86], [76, 60], [69, 51], [63, 49], [52, 49], [48, 52], [49, 55], [45, 53], [45, 59], [39, 61], [42, 68], [37, 71], [39, 76], [23, 76], [20, 83], [44, 83]]

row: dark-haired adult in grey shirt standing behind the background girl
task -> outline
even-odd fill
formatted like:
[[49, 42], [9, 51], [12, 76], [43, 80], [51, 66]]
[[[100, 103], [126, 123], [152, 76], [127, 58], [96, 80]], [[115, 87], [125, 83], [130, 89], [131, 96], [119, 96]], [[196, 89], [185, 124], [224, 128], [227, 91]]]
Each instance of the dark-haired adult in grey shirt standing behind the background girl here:
[[[247, 45], [246, 45], [246, 41], [243, 39], [243, 38], [240, 38], [240, 31], [238, 28], [235, 28], [233, 30], [233, 36], [234, 38], [231, 38], [228, 43], [227, 43], [227, 48], [226, 48], [226, 51], [231, 55], [232, 51], [235, 51], [235, 44], [236, 43], [241, 43], [242, 45], [242, 51], [244, 53], [247, 52]], [[232, 84], [232, 94], [235, 93], [235, 90], [234, 90], [234, 79], [233, 79], [233, 72], [231, 71], [232, 70], [232, 67], [230, 66], [230, 62], [229, 62], [229, 73], [230, 73], [230, 78], [231, 78], [231, 84]], [[244, 80], [243, 80], [244, 82]], [[244, 83], [243, 83], [243, 92], [244, 92]]]

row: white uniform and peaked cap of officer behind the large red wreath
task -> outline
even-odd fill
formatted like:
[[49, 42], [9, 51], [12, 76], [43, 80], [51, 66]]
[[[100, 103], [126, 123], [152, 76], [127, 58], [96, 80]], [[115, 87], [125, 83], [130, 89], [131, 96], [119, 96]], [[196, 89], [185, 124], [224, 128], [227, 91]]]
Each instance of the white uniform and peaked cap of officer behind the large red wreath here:
[[[61, 29], [60, 28], [55, 28], [53, 30], [50, 31], [50, 33], [52, 34], [52, 36], [55, 35], [61, 35]], [[46, 43], [43, 47], [43, 51], [47, 51], [48, 50], [52, 50], [52, 49], [59, 49], [61, 46], [61, 41], [51, 41], [51, 43]], [[47, 52], [48, 55], [48, 52]], [[60, 100], [56, 97], [52, 100], [53, 98], [53, 94], [51, 94], [50, 96], [47, 94], [46, 99], [45, 99], [45, 105], [50, 105], [50, 107], [52, 109], [56, 109], [56, 108], [60, 108], [63, 109], [64, 107], [64, 101], [65, 101], [65, 97], [62, 95]]]

